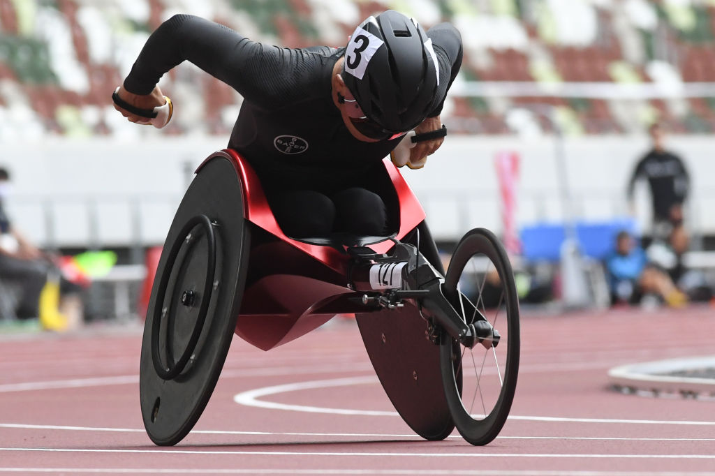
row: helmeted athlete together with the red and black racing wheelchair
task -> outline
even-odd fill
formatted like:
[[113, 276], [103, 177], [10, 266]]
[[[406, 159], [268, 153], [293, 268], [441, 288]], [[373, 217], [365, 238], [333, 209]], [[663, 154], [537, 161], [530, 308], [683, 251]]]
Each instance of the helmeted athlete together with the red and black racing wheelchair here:
[[[518, 372], [511, 265], [475, 229], [445, 273], [423, 209], [383, 159], [402, 144], [409, 157], [393, 159], [418, 168], [440, 147], [458, 31], [425, 32], [385, 11], [345, 48], [281, 49], [178, 15], [114, 91], [117, 110], [164, 127], [173, 105], [157, 82], [184, 60], [245, 99], [229, 147], [197, 169], [159, 260], [140, 379], [152, 441], [174, 445], [191, 430], [234, 333], [267, 350], [345, 313], [415, 432], [441, 440], [456, 426], [474, 445], [493, 440]], [[487, 279], [502, 290], [491, 309], [480, 299]]]

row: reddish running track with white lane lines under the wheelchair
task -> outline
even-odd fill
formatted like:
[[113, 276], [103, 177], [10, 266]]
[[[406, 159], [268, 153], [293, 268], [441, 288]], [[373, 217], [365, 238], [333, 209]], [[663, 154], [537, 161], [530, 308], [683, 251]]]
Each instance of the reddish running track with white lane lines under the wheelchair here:
[[0, 336], [0, 473], [715, 475], [715, 402], [622, 395], [606, 375], [714, 354], [713, 314], [523, 317], [516, 400], [486, 447], [411, 433], [351, 321], [270, 352], [236, 338], [197, 427], [171, 448], [142, 427], [139, 329]]

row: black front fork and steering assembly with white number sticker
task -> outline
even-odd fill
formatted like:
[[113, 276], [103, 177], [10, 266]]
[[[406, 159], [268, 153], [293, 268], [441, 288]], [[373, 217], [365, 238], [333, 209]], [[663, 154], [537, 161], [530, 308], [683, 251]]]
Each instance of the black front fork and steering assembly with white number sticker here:
[[[405, 299], [414, 299], [428, 314], [428, 337], [433, 342], [438, 342], [438, 324], [465, 347], [478, 343], [487, 349], [496, 347], [499, 332], [463, 294], [448, 299], [443, 284], [442, 275], [407, 243], [396, 244], [390, 255], [359, 255], [350, 271], [350, 287], [365, 291], [361, 300], [366, 306], [396, 309], [404, 306]], [[453, 307], [458, 299], [464, 316]]]

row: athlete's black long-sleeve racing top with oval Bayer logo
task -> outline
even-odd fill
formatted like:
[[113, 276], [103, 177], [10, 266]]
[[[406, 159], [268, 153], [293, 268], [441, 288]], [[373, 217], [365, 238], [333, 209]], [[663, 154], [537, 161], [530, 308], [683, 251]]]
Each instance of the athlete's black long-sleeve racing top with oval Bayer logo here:
[[[450, 24], [434, 26], [428, 36], [440, 71], [428, 116], [437, 116], [460, 69], [462, 43]], [[269, 46], [226, 26], [177, 15], [149, 37], [124, 88], [149, 94], [162, 74], [191, 61], [244, 97], [229, 147], [250, 162], [270, 197], [292, 190], [331, 196], [366, 187], [370, 170], [400, 141], [362, 142], [343, 124], [332, 100], [331, 76], [344, 52], [344, 47]]]

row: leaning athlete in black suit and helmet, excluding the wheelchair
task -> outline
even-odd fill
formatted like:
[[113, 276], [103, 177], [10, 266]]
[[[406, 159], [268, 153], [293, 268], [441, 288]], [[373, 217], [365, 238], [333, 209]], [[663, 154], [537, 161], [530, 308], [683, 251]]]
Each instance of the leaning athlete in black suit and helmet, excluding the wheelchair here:
[[391, 10], [363, 21], [337, 49], [260, 44], [176, 15], [152, 33], [113, 99], [129, 121], [148, 124], [137, 108], [169, 104], [159, 78], [192, 62], [244, 97], [229, 147], [257, 172], [287, 235], [381, 236], [388, 212], [371, 190], [375, 173], [408, 132], [421, 139], [408, 165], [421, 167], [440, 147], [440, 112], [462, 56], [452, 25], [425, 31]]

